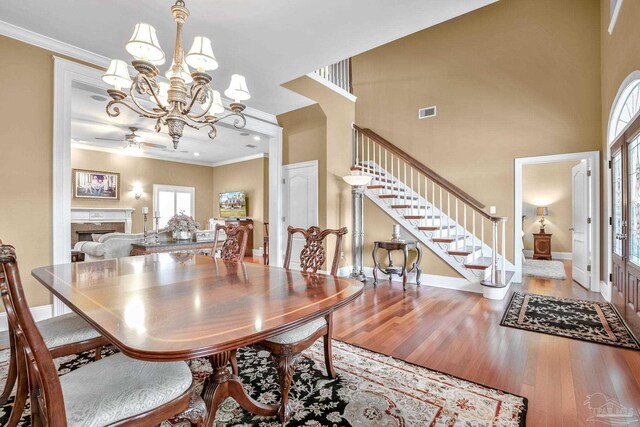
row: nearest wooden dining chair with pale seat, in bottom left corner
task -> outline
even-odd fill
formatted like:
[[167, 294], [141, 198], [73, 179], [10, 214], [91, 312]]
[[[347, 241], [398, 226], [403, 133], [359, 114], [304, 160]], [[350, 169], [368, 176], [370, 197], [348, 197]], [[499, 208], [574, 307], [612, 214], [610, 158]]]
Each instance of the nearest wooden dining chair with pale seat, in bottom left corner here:
[[25, 300], [12, 246], [0, 246], [0, 263], [0, 294], [14, 330], [18, 364], [29, 374], [32, 426], [155, 425], [178, 413], [203, 424], [207, 410], [193, 393], [185, 362], [144, 362], [118, 353], [58, 376]]

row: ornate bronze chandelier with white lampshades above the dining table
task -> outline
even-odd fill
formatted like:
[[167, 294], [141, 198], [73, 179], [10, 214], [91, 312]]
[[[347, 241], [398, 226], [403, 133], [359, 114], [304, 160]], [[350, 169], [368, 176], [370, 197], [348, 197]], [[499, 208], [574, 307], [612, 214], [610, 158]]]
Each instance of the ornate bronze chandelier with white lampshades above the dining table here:
[[[173, 140], [173, 148], [178, 148], [180, 137], [185, 126], [202, 129], [209, 127], [209, 138], [216, 137], [215, 124], [228, 117], [235, 116], [233, 125], [242, 129], [246, 119], [242, 113], [245, 105], [241, 101], [251, 98], [244, 76], [234, 74], [231, 84], [224, 94], [233, 99], [229, 105], [231, 112], [225, 113], [220, 92], [211, 88], [211, 75], [208, 73], [218, 68], [218, 61], [213, 55], [211, 40], [196, 36], [189, 52], [185, 55], [182, 47], [182, 27], [189, 17], [189, 11], [183, 0], [177, 0], [171, 7], [176, 21], [176, 43], [173, 51], [173, 62], [165, 73], [166, 79], [160, 76], [159, 65], [165, 63], [165, 54], [160, 48], [156, 30], [149, 24], [136, 24], [131, 40], [125, 48], [133, 60], [131, 65], [138, 72], [132, 79], [127, 63], [119, 59], [111, 60], [102, 80], [113, 86], [107, 93], [112, 98], [107, 104], [109, 117], [120, 115], [120, 105], [132, 110], [140, 117], [156, 121], [155, 130], [160, 132], [166, 126]], [[190, 72], [189, 67], [193, 68]], [[123, 88], [128, 88], [127, 92]], [[151, 109], [142, 105], [141, 99], [152, 102]]]

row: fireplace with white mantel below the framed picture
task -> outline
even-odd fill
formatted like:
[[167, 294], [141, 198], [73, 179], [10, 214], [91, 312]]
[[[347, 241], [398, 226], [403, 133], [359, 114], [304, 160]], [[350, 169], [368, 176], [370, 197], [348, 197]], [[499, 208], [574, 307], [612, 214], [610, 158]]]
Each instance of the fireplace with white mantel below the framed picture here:
[[92, 234], [131, 233], [131, 208], [71, 208], [71, 247]]

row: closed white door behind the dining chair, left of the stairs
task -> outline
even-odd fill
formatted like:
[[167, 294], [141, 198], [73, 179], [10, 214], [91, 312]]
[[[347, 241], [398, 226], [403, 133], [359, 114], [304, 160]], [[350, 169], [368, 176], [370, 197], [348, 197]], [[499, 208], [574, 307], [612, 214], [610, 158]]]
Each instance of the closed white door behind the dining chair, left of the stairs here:
[[[318, 162], [285, 165], [282, 167], [282, 178], [282, 253], [285, 253], [289, 226], [306, 229], [318, 225]], [[292, 242], [291, 268], [300, 268], [300, 251], [303, 247], [304, 238], [298, 233]]]

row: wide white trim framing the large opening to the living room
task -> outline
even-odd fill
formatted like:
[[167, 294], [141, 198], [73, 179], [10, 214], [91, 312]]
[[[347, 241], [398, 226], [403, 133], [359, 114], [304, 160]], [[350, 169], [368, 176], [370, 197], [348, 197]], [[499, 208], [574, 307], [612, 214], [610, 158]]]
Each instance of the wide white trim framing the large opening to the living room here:
[[[71, 262], [71, 90], [74, 83], [108, 89], [102, 81], [104, 68], [94, 68], [53, 55], [53, 170], [52, 170], [52, 261]], [[96, 67], [105, 67], [95, 63]], [[229, 102], [223, 100], [225, 107]], [[269, 137], [269, 223], [274, 239], [269, 241], [269, 262], [280, 266], [282, 221], [282, 127], [272, 114], [247, 107], [244, 129]], [[221, 124], [225, 126], [225, 124]], [[232, 125], [230, 125], [232, 126]], [[213, 195], [212, 195], [213, 203]], [[68, 308], [53, 297], [53, 315], [68, 312]]]

